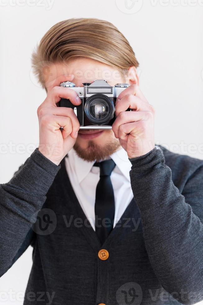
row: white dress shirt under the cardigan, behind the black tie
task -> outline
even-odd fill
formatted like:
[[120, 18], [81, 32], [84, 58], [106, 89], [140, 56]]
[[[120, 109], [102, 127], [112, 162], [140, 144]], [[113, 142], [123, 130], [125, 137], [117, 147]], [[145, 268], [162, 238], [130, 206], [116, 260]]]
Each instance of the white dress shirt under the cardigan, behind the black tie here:
[[[110, 157], [116, 163], [111, 173], [111, 182], [115, 198], [115, 218], [113, 225], [115, 227], [126, 207], [133, 199], [129, 174], [132, 165], [123, 148], [113, 153]], [[96, 187], [100, 179], [100, 168], [93, 167], [94, 163], [94, 161], [87, 162], [78, 157], [73, 148], [69, 151], [68, 157], [65, 158], [66, 170], [75, 195], [78, 198], [84, 214], [95, 230], [94, 205]]]

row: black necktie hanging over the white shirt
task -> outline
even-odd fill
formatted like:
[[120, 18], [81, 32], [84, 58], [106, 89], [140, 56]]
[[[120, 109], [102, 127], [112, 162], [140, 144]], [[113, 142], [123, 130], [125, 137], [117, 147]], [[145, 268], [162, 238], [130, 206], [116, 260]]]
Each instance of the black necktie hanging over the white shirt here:
[[110, 176], [116, 164], [110, 159], [95, 162], [94, 166], [100, 167], [100, 180], [97, 184], [95, 198], [95, 230], [103, 244], [113, 228], [115, 202]]

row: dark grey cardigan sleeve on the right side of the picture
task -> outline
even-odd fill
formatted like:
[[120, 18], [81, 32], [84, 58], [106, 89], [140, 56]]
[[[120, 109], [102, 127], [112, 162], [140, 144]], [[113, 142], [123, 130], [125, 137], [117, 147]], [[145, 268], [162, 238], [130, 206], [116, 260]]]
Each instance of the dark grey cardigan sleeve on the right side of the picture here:
[[[197, 162], [180, 194], [161, 149], [154, 148], [142, 157], [129, 160], [132, 190], [154, 273], [163, 288], [180, 303], [200, 302], [203, 300], [203, 162]], [[178, 172], [178, 163], [176, 167]]]

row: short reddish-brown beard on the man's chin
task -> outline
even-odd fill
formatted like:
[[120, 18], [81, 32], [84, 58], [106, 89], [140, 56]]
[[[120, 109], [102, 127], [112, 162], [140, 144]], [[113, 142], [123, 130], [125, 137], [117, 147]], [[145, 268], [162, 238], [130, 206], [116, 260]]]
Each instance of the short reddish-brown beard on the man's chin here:
[[107, 142], [105, 145], [100, 146], [94, 141], [89, 140], [87, 148], [82, 148], [78, 143], [75, 143], [73, 148], [83, 160], [99, 162], [111, 156], [112, 153], [115, 153], [116, 150], [120, 148], [120, 142], [115, 138], [111, 142]]

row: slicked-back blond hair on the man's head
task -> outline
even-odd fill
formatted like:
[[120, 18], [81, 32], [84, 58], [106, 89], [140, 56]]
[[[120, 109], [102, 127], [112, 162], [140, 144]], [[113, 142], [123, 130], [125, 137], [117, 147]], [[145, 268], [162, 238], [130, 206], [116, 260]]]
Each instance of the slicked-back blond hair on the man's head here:
[[45, 63], [62, 63], [76, 57], [98, 60], [120, 71], [139, 63], [125, 36], [108, 21], [95, 18], [73, 18], [61, 21], [42, 37], [32, 54], [32, 67], [44, 87]]

